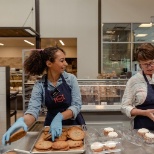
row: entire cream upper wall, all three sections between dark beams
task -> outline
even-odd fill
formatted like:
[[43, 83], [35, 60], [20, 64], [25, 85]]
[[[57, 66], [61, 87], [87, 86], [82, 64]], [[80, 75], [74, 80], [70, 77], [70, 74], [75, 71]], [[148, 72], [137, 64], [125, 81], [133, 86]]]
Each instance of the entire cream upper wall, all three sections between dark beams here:
[[[150, 22], [153, 6], [153, 0], [102, 0], [102, 22]], [[23, 26], [32, 7], [34, 0], [0, 0], [0, 27]], [[41, 37], [77, 38], [78, 78], [98, 73], [97, 7], [97, 0], [40, 0]], [[35, 29], [34, 23], [35, 11], [25, 26]]]

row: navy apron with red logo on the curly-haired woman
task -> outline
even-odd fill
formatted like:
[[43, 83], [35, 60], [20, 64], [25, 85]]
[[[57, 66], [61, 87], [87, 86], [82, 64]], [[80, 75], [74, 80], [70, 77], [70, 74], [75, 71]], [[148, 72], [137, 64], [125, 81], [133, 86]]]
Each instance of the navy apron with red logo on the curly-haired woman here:
[[[71, 88], [66, 83], [63, 75], [61, 75], [62, 84], [60, 84], [56, 89], [58, 93], [53, 97], [53, 91], [48, 90], [47, 75], [45, 76], [45, 105], [48, 109], [47, 116], [45, 119], [45, 126], [50, 126], [53, 118], [58, 112], [65, 111], [69, 106], [71, 106]], [[67, 119], [62, 121], [62, 125], [84, 125], [85, 121], [82, 114], [79, 113], [75, 120]]]

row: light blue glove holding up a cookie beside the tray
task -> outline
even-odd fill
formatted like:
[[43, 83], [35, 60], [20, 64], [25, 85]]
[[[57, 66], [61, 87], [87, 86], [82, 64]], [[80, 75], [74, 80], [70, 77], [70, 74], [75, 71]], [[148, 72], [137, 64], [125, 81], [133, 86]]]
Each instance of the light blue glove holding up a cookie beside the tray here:
[[9, 129], [8, 131], [3, 135], [2, 138], [2, 144], [6, 145], [6, 142], [9, 141], [10, 136], [15, 133], [17, 130], [19, 130], [20, 128], [23, 128], [24, 131], [27, 132], [28, 127], [24, 122], [24, 118], [21, 117], [19, 118]]

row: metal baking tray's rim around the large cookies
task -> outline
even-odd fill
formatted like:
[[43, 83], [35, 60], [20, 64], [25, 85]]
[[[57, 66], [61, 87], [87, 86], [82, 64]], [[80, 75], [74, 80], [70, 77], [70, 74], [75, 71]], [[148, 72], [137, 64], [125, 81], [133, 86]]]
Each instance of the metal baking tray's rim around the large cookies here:
[[[80, 125], [75, 125], [75, 126], [78, 126], [78, 127], [81, 127]], [[63, 126], [64, 128], [69, 128], [69, 127], [72, 127], [72, 126]], [[85, 130], [85, 127], [83, 126], [83, 131]], [[34, 150], [34, 146], [35, 144], [38, 142], [39, 138], [41, 137], [42, 133], [43, 133], [43, 130], [44, 128], [41, 130], [41, 132], [39, 133], [36, 141], [34, 142], [31, 150], [30, 150], [30, 153], [33, 153], [33, 154], [80, 154], [80, 153], [84, 153], [85, 152], [85, 140], [83, 141], [84, 142], [84, 145], [83, 147], [81, 147], [81, 149], [70, 149], [68, 151], [44, 151], [44, 152], [39, 152], [39, 151], [35, 151]]]

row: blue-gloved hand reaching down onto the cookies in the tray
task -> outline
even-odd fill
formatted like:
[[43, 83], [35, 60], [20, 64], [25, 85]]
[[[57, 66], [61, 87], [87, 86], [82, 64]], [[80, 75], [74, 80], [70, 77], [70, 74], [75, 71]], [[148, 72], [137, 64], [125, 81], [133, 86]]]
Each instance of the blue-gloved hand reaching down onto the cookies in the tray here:
[[63, 115], [59, 112], [51, 122], [49, 133], [52, 134], [52, 141], [55, 140], [55, 137], [59, 137], [62, 134], [62, 120]]

